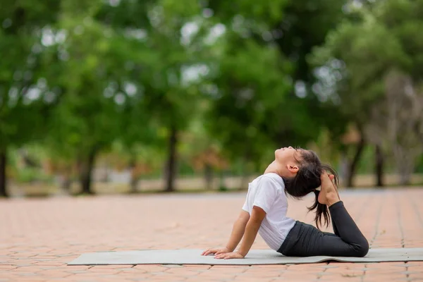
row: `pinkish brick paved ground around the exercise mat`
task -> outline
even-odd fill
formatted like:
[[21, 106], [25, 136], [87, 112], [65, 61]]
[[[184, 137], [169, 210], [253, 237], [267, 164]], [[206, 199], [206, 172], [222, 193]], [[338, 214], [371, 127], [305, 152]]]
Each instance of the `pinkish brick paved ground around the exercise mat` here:
[[[341, 191], [371, 247], [423, 246], [423, 189]], [[0, 281], [423, 281], [423, 262], [66, 266], [84, 252], [226, 243], [244, 194], [0, 200]], [[312, 222], [305, 205], [289, 216]], [[265, 248], [261, 238], [253, 248]]]

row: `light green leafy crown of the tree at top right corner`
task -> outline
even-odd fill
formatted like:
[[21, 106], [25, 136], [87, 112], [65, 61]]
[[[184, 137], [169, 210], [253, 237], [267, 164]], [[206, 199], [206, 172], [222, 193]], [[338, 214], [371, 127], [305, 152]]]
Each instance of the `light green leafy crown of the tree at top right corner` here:
[[326, 93], [320, 94], [341, 99], [344, 114], [366, 123], [372, 106], [384, 95], [386, 71], [421, 73], [421, 55], [416, 52], [423, 47], [418, 36], [421, 6], [419, 1], [381, 1], [357, 12], [359, 21], [344, 20], [331, 31], [310, 57], [327, 73], [320, 81]]

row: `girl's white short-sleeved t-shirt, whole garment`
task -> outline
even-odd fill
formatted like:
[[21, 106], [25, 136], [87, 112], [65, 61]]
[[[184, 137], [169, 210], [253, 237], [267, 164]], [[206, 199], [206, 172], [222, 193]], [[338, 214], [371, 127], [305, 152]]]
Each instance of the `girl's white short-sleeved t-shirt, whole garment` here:
[[276, 173], [266, 173], [248, 185], [247, 198], [243, 210], [251, 214], [252, 207], [260, 207], [266, 216], [259, 228], [264, 242], [273, 250], [279, 250], [286, 235], [295, 225], [295, 220], [286, 217], [288, 201], [285, 184]]

